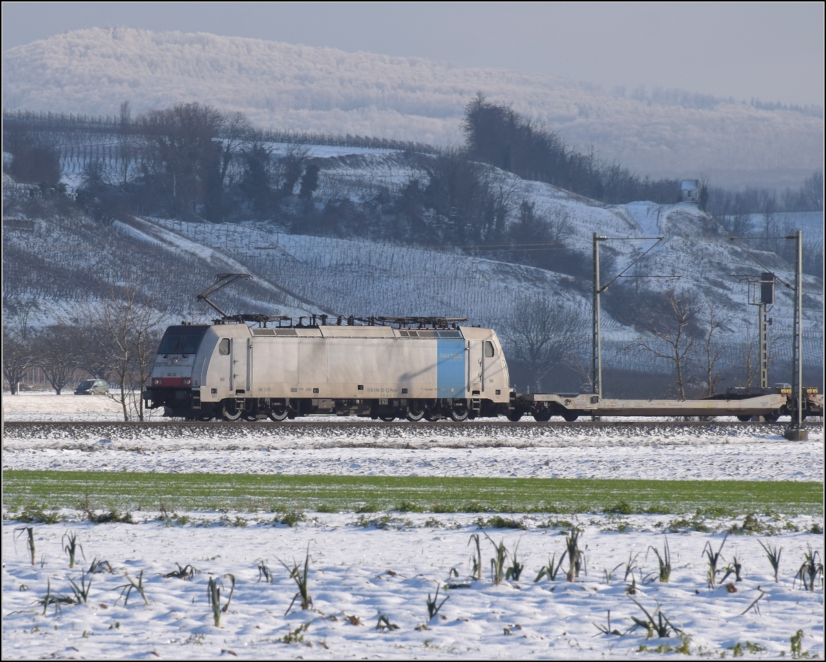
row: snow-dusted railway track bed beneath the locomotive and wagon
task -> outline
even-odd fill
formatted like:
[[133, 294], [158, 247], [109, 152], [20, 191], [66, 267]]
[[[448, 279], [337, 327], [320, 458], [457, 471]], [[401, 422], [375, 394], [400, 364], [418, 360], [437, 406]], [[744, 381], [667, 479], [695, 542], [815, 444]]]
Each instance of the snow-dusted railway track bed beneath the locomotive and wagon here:
[[[785, 421], [759, 423], [739, 421], [534, 421], [478, 420], [464, 423], [439, 422], [378, 422], [378, 421], [284, 421], [254, 423], [224, 421], [7, 421], [3, 426], [4, 441], [26, 439], [80, 439], [116, 437], [119, 440], [141, 438], [243, 438], [278, 439], [283, 437], [359, 436], [372, 439], [403, 437], [426, 440], [441, 438], [501, 438], [536, 439], [548, 437], [584, 436], [772, 436], [782, 435]], [[820, 421], [804, 423], [805, 429], [818, 431]]]

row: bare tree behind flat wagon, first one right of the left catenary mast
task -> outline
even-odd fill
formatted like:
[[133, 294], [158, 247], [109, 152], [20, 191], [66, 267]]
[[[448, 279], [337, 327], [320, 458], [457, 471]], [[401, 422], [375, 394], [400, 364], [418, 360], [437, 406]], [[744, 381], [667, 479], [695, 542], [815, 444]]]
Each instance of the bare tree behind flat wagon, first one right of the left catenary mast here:
[[692, 293], [668, 288], [653, 299], [651, 307], [638, 307], [638, 329], [641, 331], [629, 345], [635, 354], [651, 355], [671, 361], [676, 373], [676, 393], [686, 399], [686, 386], [691, 383], [691, 361], [696, 345], [696, 317], [703, 303]]

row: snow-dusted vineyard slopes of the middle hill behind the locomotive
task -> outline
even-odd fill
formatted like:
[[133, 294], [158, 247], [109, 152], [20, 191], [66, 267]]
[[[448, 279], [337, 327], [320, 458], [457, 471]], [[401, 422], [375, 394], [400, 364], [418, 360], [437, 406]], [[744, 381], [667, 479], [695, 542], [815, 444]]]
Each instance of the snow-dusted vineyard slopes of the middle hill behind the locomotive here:
[[[278, 150], [278, 145], [273, 148]], [[411, 177], [424, 175], [421, 155], [311, 149], [320, 165], [319, 206], [330, 198], [365, 204], [377, 191], [392, 193]], [[748, 331], [753, 333], [757, 321], [756, 308], [748, 305], [743, 274], [759, 274], [762, 264], [782, 281], [792, 282], [792, 267], [781, 255], [767, 250], [747, 254], [727, 239], [717, 221], [690, 203], [605, 206], [546, 183], [502, 171], [497, 176], [519, 198], [533, 202], [538, 214], [564, 219], [571, 231], [566, 244], [577, 255], [578, 273], [584, 275], [513, 264], [506, 250], [483, 246], [472, 255], [458, 248], [308, 236], [295, 229], [290, 233], [272, 221], [131, 217], [100, 226], [77, 211], [56, 212], [48, 201], [26, 198], [26, 187], [5, 181], [7, 215], [31, 219], [34, 231], [7, 228], [4, 233], [4, 294], [37, 293], [44, 304], [33, 321], [46, 323], [55, 315], [76, 316], [74, 302], [87, 299], [93, 283], [140, 283], [159, 306], [171, 307], [174, 317], [204, 321], [211, 314], [195, 305], [195, 295], [216, 273], [248, 272], [254, 274], [254, 282], [217, 298], [222, 307], [293, 317], [312, 312], [464, 316], [472, 324], [496, 328], [506, 347], [512, 342], [510, 332], [525, 323], [526, 309], [552, 307], [557, 315], [578, 319], [587, 345], [591, 236], [597, 232], [610, 238], [601, 242], [602, 283], [623, 274], [603, 295], [605, 364], [664, 374], [670, 369], [667, 361], [626, 351], [637, 335], [626, 307], [640, 292], [675, 285], [722, 305], [731, 316], [727, 360], [738, 364]], [[804, 226], [807, 245], [822, 247], [822, 223], [813, 216], [786, 214], [778, 230], [788, 234]], [[632, 266], [656, 237], [663, 239]], [[807, 275], [805, 293], [805, 362], [822, 367], [822, 281]], [[778, 364], [788, 360], [791, 312], [790, 292], [779, 286], [771, 328]]]

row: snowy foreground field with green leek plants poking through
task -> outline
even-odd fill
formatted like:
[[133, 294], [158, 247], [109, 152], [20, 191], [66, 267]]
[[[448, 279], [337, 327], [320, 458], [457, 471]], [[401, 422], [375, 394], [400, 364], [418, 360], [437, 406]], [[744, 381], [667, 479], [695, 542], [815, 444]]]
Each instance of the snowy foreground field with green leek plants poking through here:
[[[446, 529], [431, 522], [385, 530], [349, 526], [352, 519], [330, 515], [294, 528], [158, 522], [72, 526], [86, 554], [74, 570], [68, 569], [61, 549], [64, 526], [36, 526], [37, 555], [38, 559], [43, 555], [44, 562], [31, 565], [25, 542], [18, 539], [16, 549], [15, 532], [7, 524], [2, 541], [3, 658], [595, 660], [605, 655], [638, 657], [641, 645], [651, 649], [681, 645], [675, 632], [650, 640], [643, 628], [624, 636], [601, 635], [595, 623], [607, 625], [608, 610], [611, 629], [620, 633], [634, 625], [631, 617], [644, 619], [632, 598], [652, 615], [659, 606], [673, 626], [691, 637], [692, 655], [732, 655], [727, 649], [738, 644], [748, 655], [748, 641], [762, 649], [748, 657], [776, 659], [783, 651], [789, 657], [790, 637], [802, 630], [803, 649], [823, 656], [823, 591], [806, 592], [792, 579], [807, 544], [822, 552], [821, 536], [795, 533], [767, 540], [783, 547], [779, 583], [774, 582], [755, 537], [729, 537], [723, 555], [727, 563], [734, 557], [743, 563], [743, 581], [733, 582], [732, 575], [725, 585], [712, 589], [705, 579], [703, 547], [709, 542], [716, 552], [723, 536], [668, 536], [672, 575], [668, 583], [661, 583], [650, 576], [657, 570], [657, 558], [648, 545], [662, 554], [662, 535], [602, 532], [585, 521], [581, 542], [587, 545], [587, 574], [583, 571], [568, 583], [563, 569], [556, 581], [534, 583], [548, 556], [555, 553], [558, 558], [564, 550], [559, 531], [489, 531], [496, 544], [504, 541], [511, 552], [519, 545], [517, 558], [525, 564], [519, 580], [496, 586], [488, 568], [493, 545], [483, 535], [484, 578], [468, 577], [468, 555], [473, 551], [469, 536], [482, 533], [476, 526], [457, 522], [458, 528]], [[313, 606], [306, 611], [294, 606], [285, 616], [297, 589], [278, 559], [291, 567], [293, 560], [301, 565], [307, 549]], [[637, 555], [639, 565], [633, 595], [629, 595], [631, 575], [626, 580], [624, 568], [615, 568], [629, 555]], [[44, 616], [36, 601], [45, 597], [47, 580], [52, 592], [71, 595], [69, 579], [79, 583], [82, 569], [94, 557], [106, 560], [112, 573], [93, 575], [88, 602], [64, 605], [56, 617], [55, 607], [50, 606]], [[273, 583], [258, 581], [261, 560], [272, 571]], [[188, 581], [164, 579], [164, 574], [177, 569], [176, 564], [191, 564], [201, 574]], [[613, 575], [610, 581], [606, 570]], [[149, 604], [134, 590], [124, 604], [120, 587], [128, 585], [129, 578], [136, 581], [141, 572]], [[207, 582], [223, 578], [223, 606], [230, 589], [226, 574], [235, 577], [235, 593], [230, 608], [221, 614], [221, 627], [216, 627], [207, 602]], [[443, 596], [448, 601], [437, 616], [429, 618], [427, 598], [447, 582], [458, 586], [442, 588], [439, 602]], [[729, 584], [736, 592], [729, 593]], [[748, 609], [757, 598], [757, 605]], [[377, 631], [380, 615], [398, 629]], [[303, 642], [284, 643], [285, 636], [305, 624], [309, 625], [300, 633]], [[659, 655], [662, 652], [651, 656]]]

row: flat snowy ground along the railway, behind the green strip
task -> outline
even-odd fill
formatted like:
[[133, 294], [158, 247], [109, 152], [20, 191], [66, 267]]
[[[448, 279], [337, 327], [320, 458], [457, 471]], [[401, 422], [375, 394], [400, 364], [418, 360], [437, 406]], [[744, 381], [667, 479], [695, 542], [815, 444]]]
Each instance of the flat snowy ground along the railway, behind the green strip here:
[[[117, 421], [115, 402], [101, 396], [22, 394], [4, 398], [7, 421]], [[67, 411], [69, 410], [69, 411]], [[363, 419], [347, 419], [363, 421]], [[824, 436], [790, 442], [774, 426], [691, 428], [643, 426], [456, 426], [368, 421], [209, 426], [198, 436], [169, 431], [84, 429], [72, 435], [7, 435], [3, 469], [157, 471], [233, 474], [478, 476], [660, 480], [823, 481]], [[346, 422], [346, 421], [345, 421]], [[573, 449], [576, 449], [572, 452]]]

